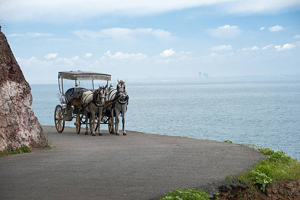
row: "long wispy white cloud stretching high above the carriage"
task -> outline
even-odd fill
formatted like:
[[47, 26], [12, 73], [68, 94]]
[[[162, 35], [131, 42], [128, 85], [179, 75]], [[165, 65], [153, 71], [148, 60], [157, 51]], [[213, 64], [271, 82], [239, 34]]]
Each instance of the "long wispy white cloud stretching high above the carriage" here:
[[101, 29], [100, 31], [92, 31], [92, 30], [75, 30], [72, 33], [77, 35], [82, 39], [87, 38], [113, 38], [117, 41], [134, 41], [137, 36], [141, 35], [150, 35], [154, 36], [161, 40], [171, 40], [174, 37], [169, 31], [165, 31], [163, 29], [153, 29], [153, 28], [106, 28]]

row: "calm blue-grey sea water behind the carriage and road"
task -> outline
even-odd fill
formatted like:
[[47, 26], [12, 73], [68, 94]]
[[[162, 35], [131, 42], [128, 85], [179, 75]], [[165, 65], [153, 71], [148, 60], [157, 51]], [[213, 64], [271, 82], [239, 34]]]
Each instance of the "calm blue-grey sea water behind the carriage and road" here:
[[[126, 90], [130, 99], [125, 129], [229, 139], [300, 157], [300, 81], [128, 82]], [[56, 84], [31, 85], [32, 108], [42, 125], [54, 125], [58, 92]], [[66, 126], [74, 126], [74, 122], [66, 122]], [[101, 125], [101, 129], [108, 126]]]

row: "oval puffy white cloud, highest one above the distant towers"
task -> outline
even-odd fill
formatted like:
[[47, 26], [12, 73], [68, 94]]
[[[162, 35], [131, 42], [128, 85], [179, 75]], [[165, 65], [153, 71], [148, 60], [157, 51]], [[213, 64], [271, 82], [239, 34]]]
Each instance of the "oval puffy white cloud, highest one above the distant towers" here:
[[218, 26], [218, 28], [211, 28], [207, 31], [217, 38], [233, 38], [242, 32], [242, 30], [236, 25]]

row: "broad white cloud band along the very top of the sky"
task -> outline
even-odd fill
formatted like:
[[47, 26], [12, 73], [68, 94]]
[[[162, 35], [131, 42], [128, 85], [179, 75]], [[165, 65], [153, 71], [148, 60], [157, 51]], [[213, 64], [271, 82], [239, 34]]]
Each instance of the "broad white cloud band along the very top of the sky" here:
[[[141, 16], [186, 8], [211, 6], [223, 13], [276, 12], [300, 5], [299, 0], [1, 0], [0, 19], [5, 21], [76, 21], [107, 14]], [[47, 11], [47, 12], [45, 12]]]

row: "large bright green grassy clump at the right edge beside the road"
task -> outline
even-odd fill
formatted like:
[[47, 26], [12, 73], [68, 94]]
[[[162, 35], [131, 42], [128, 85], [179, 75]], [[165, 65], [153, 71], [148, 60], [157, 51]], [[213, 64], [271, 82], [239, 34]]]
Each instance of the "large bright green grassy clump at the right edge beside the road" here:
[[283, 151], [275, 151], [267, 147], [252, 148], [266, 155], [266, 159], [256, 163], [253, 169], [237, 178], [250, 186], [257, 185], [262, 191], [274, 181], [288, 181], [300, 178], [300, 163]]

